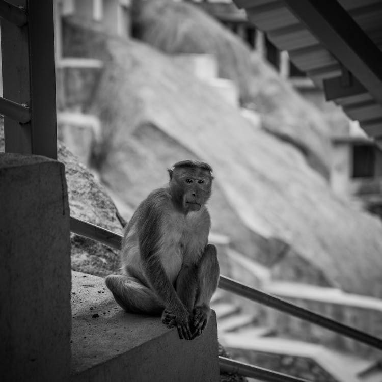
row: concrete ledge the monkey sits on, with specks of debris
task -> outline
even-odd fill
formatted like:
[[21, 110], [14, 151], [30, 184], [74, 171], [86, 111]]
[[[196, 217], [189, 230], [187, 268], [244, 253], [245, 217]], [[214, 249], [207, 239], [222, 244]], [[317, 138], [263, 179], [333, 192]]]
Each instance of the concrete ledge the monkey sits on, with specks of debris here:
[[216, 316], [180, 340], [159, 317], [125, 313], [104, 279], [72, 272], [72, 381], [217, 381]]

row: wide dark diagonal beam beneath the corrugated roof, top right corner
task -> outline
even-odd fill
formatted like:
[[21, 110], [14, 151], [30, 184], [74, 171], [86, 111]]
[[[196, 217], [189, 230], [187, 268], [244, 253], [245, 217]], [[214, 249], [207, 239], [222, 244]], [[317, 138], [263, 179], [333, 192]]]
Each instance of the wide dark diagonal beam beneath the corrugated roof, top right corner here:
[[345, 9], [337, 1], [284, 2], [382, 105], [382, 52]]

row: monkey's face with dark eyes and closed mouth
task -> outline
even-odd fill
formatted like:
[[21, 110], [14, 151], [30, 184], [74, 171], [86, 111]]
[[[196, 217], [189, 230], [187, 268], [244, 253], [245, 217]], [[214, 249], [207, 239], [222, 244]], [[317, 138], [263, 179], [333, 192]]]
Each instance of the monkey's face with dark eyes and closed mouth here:
[[199, 168], [176, 168], [170, 174], [170, 191], [184, 213], [199, 211], [211, 196], [212, 176]]

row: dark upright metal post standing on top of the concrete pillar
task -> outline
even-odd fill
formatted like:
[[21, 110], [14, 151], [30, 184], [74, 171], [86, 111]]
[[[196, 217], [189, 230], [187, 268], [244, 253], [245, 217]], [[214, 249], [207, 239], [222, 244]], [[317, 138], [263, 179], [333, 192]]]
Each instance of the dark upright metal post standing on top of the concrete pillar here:
[[4, 97], [31, 110], [21, 124], [4, 119], [5, 150], [57, 159], [56, 75], [52, 0], [9, 0], [26, 10], [28, 23], [1, 20]]

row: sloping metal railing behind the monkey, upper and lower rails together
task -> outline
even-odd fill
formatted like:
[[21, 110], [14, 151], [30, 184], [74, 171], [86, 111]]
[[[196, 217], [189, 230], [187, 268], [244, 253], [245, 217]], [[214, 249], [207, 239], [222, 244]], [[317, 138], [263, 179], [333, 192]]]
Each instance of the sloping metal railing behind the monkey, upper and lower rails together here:
[[[75, 219], [74, 217], [70, 217], [70, 230], [77, 235], [99, 241], [102, 244], [108, 245], [109, 247], [121, 249], [122, 235], [106, 230], [94, 224]], [[362, 332], [358, 329], [351, 328], [351, 326], [345, 325], [341, 322], [333, 320], [332, 318], [325, 317], [321, 314], [310, 311], [309, 309], [305, 309], [295, 304], [289, 303], [284, 299], [276, 297], [272, 294], [239, 283], [224, 275], [220, 275], [218, 286], [221, 289], [248, 298], [251, 301], [269, 306], [302, 320], [312, 322], [322, 326], [322, 328], [329, 329], [332, 332], [342, 334], [346, 337], [382, 350], [382, 339], [380, 338], [371, 336], [370, 334]], [[295, 378], [289, 375], [277, 373], [239, 361], [230, 360], [224, 357], [219, 357], [219, 365], [222, 371], [227, 371], [229, 373], [237, 372], [241, 375], [253, 378], [261, 378], [264, 381], [269, 382], [304, 381], [304, 379]]]

